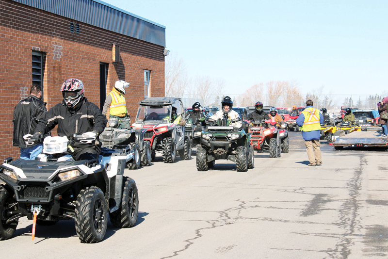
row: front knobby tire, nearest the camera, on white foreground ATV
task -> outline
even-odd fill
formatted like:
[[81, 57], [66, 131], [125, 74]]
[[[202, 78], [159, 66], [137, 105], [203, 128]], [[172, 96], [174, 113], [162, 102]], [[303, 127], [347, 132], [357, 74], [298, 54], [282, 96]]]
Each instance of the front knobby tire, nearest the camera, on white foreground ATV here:
[[77, 196], [74, 221], [81, 243], [97, 243], [104, 238], [108, 206], [100, 188], [91, 186], [81, 190]]

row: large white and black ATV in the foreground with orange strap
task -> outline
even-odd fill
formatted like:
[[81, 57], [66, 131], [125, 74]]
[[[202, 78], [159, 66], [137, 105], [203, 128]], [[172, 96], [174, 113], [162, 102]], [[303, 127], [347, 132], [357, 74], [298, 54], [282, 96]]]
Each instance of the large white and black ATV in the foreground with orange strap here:
[[[25, 136], [28, 145], [42, 139]], [[133, 227], [139, 198], [136, 183], [124, 177], [126, 163], [136, 161], [136, 150], [102, 148], [97, 160], [74, 161], [65, 154], [69, 144], [92, 143], [86, 133], [46, 137], [43, 151], [35, 160], [7, 158], [0, 165], [0, 240], [13, 236], [18, 219], [27, 216], [41, 226], [74, 219], [81, 243], [100, 242], [106, 233], [108, 213], [114, 227]]]

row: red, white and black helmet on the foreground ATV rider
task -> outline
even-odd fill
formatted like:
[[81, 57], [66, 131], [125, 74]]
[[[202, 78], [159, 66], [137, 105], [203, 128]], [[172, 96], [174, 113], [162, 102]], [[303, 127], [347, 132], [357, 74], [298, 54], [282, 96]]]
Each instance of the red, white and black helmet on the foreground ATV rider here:
[[62, 84], [61, 92], [66, 106], [73, 108], [84, 96], [83, 83], [76, 78], [70, 78]]

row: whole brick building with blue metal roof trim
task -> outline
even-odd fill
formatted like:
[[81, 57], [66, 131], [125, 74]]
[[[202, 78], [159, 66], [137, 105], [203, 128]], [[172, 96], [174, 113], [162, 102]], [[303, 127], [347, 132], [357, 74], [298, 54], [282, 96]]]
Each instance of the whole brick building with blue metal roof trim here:
[[1, 161], [19, 157], [13, 111], [32, 83], [49, 109], [63, 81], [78, 78], [102, 108], [114, 82], [128, 81], [134, 118], [141, 99], [164, 96], [164, 47], [164, 26], [99, 0], [0, 0]]

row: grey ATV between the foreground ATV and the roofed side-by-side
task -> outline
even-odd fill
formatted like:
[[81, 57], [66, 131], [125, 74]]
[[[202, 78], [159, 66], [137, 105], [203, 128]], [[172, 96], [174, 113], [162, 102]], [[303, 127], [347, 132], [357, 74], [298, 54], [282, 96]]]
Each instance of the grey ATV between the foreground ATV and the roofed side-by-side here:
[[[126, 119], [130, 123], [130, 119]], [[131, 148], [138, 145], [140, 152], [140, 165], [148, 166], [151, 164], [151, 146], [149, 141], [144, 141], [144, 133], [146, 129], [120, 129], [119, 120], [117, 118], [110, 118], [108, 126], [100, 134], [99, 139], [102, 147], [111, 149], [120, 149], [130, 146]], [[132, 168], [137, 169], [137, 168]]]

